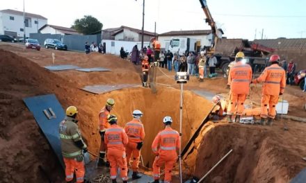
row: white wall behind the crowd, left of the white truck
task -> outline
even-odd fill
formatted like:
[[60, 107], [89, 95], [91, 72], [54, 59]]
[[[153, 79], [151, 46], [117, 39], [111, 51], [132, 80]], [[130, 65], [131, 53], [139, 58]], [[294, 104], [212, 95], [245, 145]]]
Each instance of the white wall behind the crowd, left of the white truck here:
[[[121, 46], [124, 47], [124, 51], [131, 52], [133, 47], [137, 44], [138, 49], [140, 50], [141, 42], [125, 42], [118, 40], [102, 40], [106, 44], [106, 53], [120, 55]], [[114, 42], [115, 46], [111, 46], [111, 42]], [[143, 42], [143, 46], [149, 46], [150, 42]]]

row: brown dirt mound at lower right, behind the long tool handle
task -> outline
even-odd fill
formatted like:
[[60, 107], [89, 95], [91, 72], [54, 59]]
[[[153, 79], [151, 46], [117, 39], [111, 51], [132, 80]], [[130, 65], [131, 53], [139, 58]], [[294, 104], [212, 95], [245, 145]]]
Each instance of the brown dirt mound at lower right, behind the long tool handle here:
[[232, 149], [232, 154], [211, 172], [206, 182], [289, 182], [305, 167], [300, 157], [305, 147], [289, 148], [291, 140], [286, 140], [289, 134], [280, 132], [245, 125], [209, 124], [202, 131], [196, 159], [190, 156], [186, 162], [195, 162], [193, 175], [202, 177]]

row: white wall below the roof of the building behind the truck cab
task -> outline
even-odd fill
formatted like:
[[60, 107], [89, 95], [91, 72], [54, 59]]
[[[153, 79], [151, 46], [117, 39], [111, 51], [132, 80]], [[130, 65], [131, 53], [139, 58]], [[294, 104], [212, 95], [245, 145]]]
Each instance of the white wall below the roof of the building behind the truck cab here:
[[211, 46], [211, 42], [209, 40], [211, 40], [212, 35], [182, 35], [182, 36], [163, 36], [163, 35], [159, 35], [159, 42], [161, 42], [161, 48], [162, 49], [167, 49], [166, 48], [166, 44], [167, 42], [170, 42], [170, 40], [173, 37], [189, 37], [189, 38], [193, 38], [197, 41], [201, 42], [201, 47], [202, 46]]

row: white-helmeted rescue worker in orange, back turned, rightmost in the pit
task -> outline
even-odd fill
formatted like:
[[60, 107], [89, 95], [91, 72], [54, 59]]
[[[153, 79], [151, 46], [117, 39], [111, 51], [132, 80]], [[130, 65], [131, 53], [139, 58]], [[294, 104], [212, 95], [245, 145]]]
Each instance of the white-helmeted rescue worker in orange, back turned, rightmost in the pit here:
[[152, 150], [156, 155], [153, 163], [154, 182], [159, 182], [160, 167], [165, 164], [165, 183], [172, 180], [171, 171], [177, 162], [177, 149], [179, 149], [179, 132], [172, 130], [170, 125], [172, 119], [170, 116], [163, 118], [163, 124], [166, 126], [164, 130], [156, 135]]

